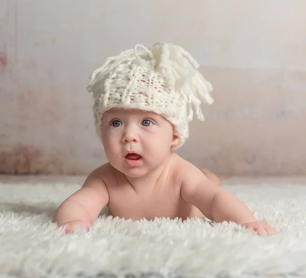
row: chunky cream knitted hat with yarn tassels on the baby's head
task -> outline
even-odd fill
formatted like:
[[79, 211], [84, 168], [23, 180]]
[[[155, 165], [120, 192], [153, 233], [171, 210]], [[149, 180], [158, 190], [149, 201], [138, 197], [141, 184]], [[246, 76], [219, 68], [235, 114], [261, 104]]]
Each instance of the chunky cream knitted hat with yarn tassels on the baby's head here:
[[164, 116], [174, 126], [179, 145], [188, 138], [193, 108], [204, 120], [200, 104], [213, 103], [212, 86], [196, 70], [198, 63], [179, 45], [158, 42], [150, 49], [137, 44], [119, 56], [109, 57], [90, 77], [94, 118], [100, 136], [105, 111], [119, 107], [141, 109]]

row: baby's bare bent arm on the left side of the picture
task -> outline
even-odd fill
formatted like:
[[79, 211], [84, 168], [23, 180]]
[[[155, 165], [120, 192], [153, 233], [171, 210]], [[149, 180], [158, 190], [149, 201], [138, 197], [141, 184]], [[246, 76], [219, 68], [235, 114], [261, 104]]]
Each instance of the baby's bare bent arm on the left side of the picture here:
[[88, 230], [108, 201], [106, 185], [96, 171], [93, 171], [83, 187], [59, 206], [53, 222], [59, 226], [66, 226], [65, 232], [72, 232], [78, 226]]

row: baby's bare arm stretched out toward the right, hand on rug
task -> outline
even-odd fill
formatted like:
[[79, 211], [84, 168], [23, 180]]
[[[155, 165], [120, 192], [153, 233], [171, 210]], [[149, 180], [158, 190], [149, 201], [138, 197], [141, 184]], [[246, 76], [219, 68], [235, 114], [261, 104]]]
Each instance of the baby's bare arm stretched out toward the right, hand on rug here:
[[216, 222], [233, 221], [259, 234], [275, 234], [276, 231], [267, 223], [259, 222], [240, 199], [216, 186], [194, 165], [187, 163], [184, 169], [182, 198], [197, 207], [207, 218]]

